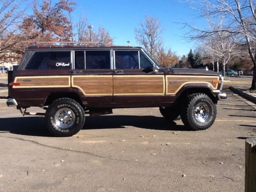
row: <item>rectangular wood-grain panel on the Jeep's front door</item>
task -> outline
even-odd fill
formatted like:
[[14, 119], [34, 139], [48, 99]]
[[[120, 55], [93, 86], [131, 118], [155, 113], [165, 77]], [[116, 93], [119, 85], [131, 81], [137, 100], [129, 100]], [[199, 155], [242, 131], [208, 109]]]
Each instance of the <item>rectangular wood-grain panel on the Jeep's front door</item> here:
[[115, 75], [114, 95], [164, 95], [163, 75]]

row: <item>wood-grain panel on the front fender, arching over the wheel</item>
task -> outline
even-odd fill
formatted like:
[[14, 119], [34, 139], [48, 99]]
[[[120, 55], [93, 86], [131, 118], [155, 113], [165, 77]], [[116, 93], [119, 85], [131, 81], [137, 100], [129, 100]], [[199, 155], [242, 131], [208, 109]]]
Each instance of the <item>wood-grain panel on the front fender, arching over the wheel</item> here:
[[166, 95], [176, 94], [186, 84], [208, 84], [216, 90], [218, 83], [212, 83], [213, 80], [219, 80], [219, 76], [166, 76]]

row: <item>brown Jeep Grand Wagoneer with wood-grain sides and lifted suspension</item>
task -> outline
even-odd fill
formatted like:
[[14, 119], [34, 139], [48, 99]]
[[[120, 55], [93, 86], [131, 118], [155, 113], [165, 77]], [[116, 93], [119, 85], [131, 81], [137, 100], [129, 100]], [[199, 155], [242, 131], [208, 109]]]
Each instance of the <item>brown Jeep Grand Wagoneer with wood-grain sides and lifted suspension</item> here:
[[166, 119], [180, 116], [189, 129], [205, 130], [215, 121], [217, 101], [226, 98], [221, 75], [162, 68], [140, 47], [30, 46], [9, 82], [7, 105], [24, 115], [30, 106], [45, 109], [55, 136], [72, 136], [85, 114], [114, 108], [159, 107]]

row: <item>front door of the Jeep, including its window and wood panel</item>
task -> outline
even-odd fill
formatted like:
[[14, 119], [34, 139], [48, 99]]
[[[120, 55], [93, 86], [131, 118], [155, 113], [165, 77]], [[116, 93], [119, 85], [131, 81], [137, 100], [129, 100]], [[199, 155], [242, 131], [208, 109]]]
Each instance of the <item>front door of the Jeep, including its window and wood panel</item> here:
[[113, 95], [116, 103], [164, 101], [164, 74], [141, 50], [114, 50]]

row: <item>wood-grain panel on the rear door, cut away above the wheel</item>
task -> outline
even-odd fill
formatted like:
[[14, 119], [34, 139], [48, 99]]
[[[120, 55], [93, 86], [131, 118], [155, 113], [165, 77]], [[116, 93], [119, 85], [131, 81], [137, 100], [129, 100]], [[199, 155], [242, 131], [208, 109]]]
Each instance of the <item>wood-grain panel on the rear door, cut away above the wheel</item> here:
[[72, 76], [72, 87], [78, 88], [84, 95], [113, 95], [112, 75]]

